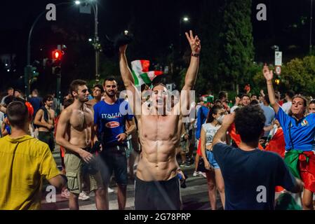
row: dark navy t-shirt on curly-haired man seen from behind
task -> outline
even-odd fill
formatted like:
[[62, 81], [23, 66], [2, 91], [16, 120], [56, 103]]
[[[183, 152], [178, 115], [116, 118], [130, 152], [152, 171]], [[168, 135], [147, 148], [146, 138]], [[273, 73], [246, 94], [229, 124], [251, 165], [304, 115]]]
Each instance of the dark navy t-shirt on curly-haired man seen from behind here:
[[275, 187], [295, 188], [295, 178], [276, 153], [219, 143], [213, 154], [224, 179], [226, 210], [274, 209]]

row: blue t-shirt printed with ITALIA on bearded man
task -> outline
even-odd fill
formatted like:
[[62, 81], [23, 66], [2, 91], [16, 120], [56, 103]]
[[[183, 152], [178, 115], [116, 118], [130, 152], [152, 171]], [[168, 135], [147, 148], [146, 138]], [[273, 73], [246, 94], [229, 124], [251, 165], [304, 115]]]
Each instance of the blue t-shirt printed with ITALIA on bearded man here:
[[98, 125], [98, 136], [102, 136], [102, 144], [104, 146], [126, 145], [126, 141], [119, 143], [116, 137], [126, 131], [126, 120], [133, 120], [128, 102], [117, 99], [110, 105], [102, 100], [93, 108], [94, 124]]

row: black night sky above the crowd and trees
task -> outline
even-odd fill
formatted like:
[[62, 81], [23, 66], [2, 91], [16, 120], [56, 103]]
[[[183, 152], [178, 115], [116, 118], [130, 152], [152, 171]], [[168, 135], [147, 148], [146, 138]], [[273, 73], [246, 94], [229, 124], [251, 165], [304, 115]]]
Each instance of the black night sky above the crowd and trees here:
[[[27, 35], [32, 22], [41, 11], [45, 10], [46, 4], [64, 1], [67, 0], [1, 1], [0, 55], [15, 53], [17, 69], [22, 71], [26, 63]], [[114, 38], [124, 29], [129, 29], [132, 32], [136, 31], [136, 39], [141, 32], [142, 37], [145, 36], [146, 43], [142, 43], [143, 48], [138, 49], [138, 55], [144, 57], [154, 57], [157, 52], [161, 54], [166, 51], [171, 44], [178, 45], [180, 18], [184, 15], [189, 16], [190, 22], [183, 25], [182, 33], [193, 29], [198, 34], [198, 30], [194, 29], [201, 10], [198, 0], [99, 0], [98, 2], [100, 38], [104, 38], [105, 34]], [[251, 18], [257, 62], [272, 60], [273, 50], [267, 45], [279, 45], [283, 54], [287, 55], [284, 60], [307, 54], [310, 2], [311, 0], [253, 0]], [[267, 5], [267, 21], [258, 22], [255, 19], [257, 13], [255, 8], [258, 3]], [[54, 25], [55, 29], [52, 28]], [[93, 14], [79, 13], [76, 6], [58, 6], [56, 22], [48, 22], [45, 17], [41, 18], [32, 38], [32, 59], [49, 57], [48, 52], [58, 44], [58, 35], [56, 36], [55, 32], [67, 35], [70, 39], [87, 40], [93, 37]], [[200, 38], [202, 41], [202, 36]], [[88, 45], [87, 41], [86, 45]], [[187, 47], [186, 42], [183, 42], [183, 45]], [[82, 45], [83, 47], [86, 46]], [[93, 57], [93, 48], [91, 53]]]

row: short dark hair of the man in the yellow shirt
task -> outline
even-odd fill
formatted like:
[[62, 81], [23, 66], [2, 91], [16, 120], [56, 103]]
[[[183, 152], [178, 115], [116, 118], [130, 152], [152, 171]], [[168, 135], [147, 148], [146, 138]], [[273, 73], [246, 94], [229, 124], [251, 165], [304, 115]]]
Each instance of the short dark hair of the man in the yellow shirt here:
[[13, 127], [23, 128], [28, 120], [29, 112], [25, 103], [13, 101], [6, 108], [8, 121]]

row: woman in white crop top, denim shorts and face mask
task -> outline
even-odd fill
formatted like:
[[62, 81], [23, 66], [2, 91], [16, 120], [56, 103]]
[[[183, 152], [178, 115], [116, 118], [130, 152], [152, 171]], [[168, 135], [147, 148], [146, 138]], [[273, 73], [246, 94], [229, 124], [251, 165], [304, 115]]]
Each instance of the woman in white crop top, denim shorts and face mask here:
[[206, 172], [207, 183], [208, 183], [208, 196], [210, 201], [210, 206], [212, 210], [216, 210], [216, 190], [220, 193], [220, 198], [222, 206], [224, 208], [225, 195], [224, 195], [224, 181], [219, 165], [213, 157], [212, 147], [213, 137], [219, 128], [224, 117], [224, 109], [222, 106], [213, 106], [206, 120], [206, 123], [202, 125], [201, 128], [201, 153], [204, 158], [204, 163], [208, 172]]

